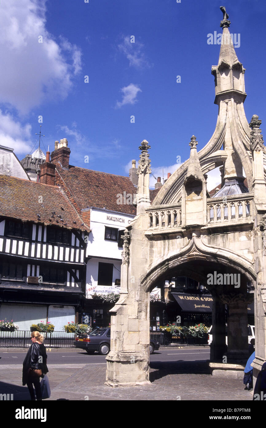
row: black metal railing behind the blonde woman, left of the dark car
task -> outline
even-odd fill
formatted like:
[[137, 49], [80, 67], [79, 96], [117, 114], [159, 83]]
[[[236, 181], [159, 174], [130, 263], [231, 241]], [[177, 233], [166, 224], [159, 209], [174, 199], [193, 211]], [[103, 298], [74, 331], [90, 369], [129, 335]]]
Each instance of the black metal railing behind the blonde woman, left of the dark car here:
[[[75, 333], [54, 331], [41, 333], [44, 335], [46, 348], [74, 348]], [[18, 330], [14, 332], [0, 331], [0, 348], [29, 348], [31, 331]]]

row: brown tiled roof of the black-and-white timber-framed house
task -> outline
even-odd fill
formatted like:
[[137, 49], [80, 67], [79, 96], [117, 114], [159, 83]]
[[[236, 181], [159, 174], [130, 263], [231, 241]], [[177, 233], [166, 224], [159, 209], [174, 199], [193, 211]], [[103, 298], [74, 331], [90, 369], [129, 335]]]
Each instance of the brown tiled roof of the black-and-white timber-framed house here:
[[[82, 220], [58, 186], [8, 175], [0, 175], [0, 215], [23, 221], [88, 230], [87, 226], [82, 226]], [[73, 223], [74, 221], [76, 223]]]

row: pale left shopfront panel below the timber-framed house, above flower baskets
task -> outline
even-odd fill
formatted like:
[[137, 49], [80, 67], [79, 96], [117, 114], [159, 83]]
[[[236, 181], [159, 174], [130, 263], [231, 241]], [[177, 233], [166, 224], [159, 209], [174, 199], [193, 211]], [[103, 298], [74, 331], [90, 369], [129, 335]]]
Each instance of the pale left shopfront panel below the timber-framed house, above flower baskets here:
[[0, 306], [0, 320], [13, 320], [20, 330], [29, 330], [31, 324], [46, 322], [46, 317], [46, 305], [2, 303]]

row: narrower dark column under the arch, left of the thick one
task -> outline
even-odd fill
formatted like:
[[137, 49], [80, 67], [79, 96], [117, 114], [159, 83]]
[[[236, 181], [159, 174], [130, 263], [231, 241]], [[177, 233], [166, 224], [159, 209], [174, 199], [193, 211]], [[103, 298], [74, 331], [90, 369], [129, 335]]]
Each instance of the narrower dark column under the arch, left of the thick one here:
[[210, 344], [210, 361], [222, 360], [226, 352], [225, 343], [225, 304], [218, 295], [213, 295], [212, 342]]

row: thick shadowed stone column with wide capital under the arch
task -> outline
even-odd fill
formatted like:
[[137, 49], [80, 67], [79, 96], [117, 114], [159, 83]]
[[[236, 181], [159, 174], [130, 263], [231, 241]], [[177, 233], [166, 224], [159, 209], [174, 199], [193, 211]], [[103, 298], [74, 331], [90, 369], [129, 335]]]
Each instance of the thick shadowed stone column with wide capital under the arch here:
[[248, 359], [248, 303], [253, 294], [226, 293], [221, 300], [228, 305], [227, 358], [228, 362]]

